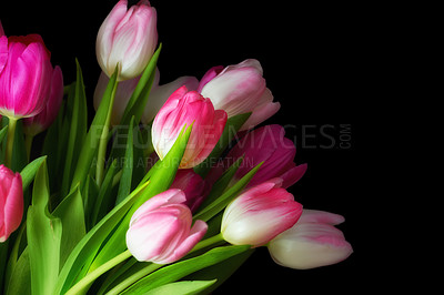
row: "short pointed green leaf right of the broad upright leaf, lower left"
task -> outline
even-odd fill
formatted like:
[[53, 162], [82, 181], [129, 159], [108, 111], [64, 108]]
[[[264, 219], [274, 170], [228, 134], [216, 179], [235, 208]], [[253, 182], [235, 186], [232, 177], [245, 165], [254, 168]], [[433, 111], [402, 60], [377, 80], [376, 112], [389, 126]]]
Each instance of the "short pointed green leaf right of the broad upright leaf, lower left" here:
[[60, 268], [63, 266], [71, 251], [87, 234], [84, 225], [83, 200], [79, 187], [69, 194], [52, 213], [62, 222], [62, 237], [60, 248]]

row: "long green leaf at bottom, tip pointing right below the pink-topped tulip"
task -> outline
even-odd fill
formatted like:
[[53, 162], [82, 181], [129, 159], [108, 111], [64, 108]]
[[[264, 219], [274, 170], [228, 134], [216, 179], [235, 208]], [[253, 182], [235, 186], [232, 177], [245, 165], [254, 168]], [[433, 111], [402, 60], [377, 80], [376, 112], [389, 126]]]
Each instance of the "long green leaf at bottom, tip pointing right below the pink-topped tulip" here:
[[155, 287], [173, 283], [196, 271], [220, 263], [249, 250], [249, 245], [215, 247], [198, 257], [167, 265], [142, 279], [139, 279], [131, 287], [122, 292], [122, 294], [145, 294]]

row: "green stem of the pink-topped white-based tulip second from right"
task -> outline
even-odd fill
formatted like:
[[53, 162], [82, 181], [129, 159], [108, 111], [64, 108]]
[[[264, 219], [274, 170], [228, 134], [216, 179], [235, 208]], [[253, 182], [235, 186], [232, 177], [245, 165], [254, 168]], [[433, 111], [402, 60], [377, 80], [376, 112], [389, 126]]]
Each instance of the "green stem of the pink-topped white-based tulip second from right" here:
[[[199, 242], [190, 252], [189, 254], [205, 248], [208, 246], [218, 244], [220, 242], [224, 241], [222, 237], [222, 234], [218, 234], [215, 236], [209, 237], [204, 241]], [[114, 295], [114, 294], [119, 294], [122, 291], [124, 291], [125, 288], [128, 288], [129, 286], [131, 286], [132, 284], [134, 284], [135, 282], [138, 282], [139, 279], [141, 279], [142, 277], [145, 277], [147, 275], [151, 274], [152, 272], [157, 271], [158, 268], [162, 267], [163, 264], [150, 264], [147, 267], [140, 269], [139, 272], [137, 272], [135, 274], [131, 275], [130, 277], [128, 277], [127, 279], [124, 279], [123, 282], [121, 282], [119, 285], [117, 285], [115, 287], [113, 287], [110, 292], [107, 293], [107, 295]]]

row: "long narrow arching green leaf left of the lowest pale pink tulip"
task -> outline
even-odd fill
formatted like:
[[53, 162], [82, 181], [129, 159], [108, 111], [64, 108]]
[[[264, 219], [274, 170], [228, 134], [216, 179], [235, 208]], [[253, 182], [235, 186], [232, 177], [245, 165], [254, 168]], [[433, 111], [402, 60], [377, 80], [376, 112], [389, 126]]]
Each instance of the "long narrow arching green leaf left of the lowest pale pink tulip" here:
[[83, 267], [89, 266], [91, 256], [101, 247], [102, 243], [108, 238], [109, 234], [121, 223], [128, 210], [134, 204], [139, 194], [147, 189], [145, 183], [134, 190], [122, 203], [117, 205], [107, 214], [87, 235], [77, 244], [71, 252], [62, 269], [60, 271], [56, 289], [52, 294], [65, 293], [73, 284], [82, 277], [78, 277]]

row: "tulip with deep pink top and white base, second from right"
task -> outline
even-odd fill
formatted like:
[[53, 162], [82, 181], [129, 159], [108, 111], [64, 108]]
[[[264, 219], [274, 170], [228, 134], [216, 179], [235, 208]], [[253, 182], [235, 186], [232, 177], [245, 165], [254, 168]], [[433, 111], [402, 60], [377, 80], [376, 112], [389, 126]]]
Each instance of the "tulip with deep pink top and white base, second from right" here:
[[262, 246], [296, 223], [302, 205], [281, 183], [274, 179], [253, 186], [226, 206], [221, 226], [226, 242]]

